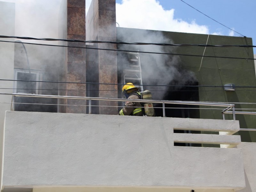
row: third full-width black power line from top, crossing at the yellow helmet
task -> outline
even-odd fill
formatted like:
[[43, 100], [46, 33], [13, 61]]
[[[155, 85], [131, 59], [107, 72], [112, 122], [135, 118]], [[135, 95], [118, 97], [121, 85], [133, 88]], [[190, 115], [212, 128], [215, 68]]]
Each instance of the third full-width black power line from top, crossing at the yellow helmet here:
[[[24, 81], [24, 82], [43, 82], [43, 83], [69, 83], [69, 84], [102, 84], [102, 85], [124, 85], [117, 83], [91, 83], [91, 82], [63, 82], [63, 81], [34, 81], [34, 80], [14, 80], [14, 79], [0, 79], [0, 81]], [[141, 84], [134, 84], [135, 86], [140, 86]], [[143, 84], [143, 86], [159, 86], [159, 87], [226, 87], [218, 85], [153, 85], [153, 84]], [[256, 88], [256, 86], [235, 86], [235, 88]], [[22, 88], [21, 88], [22, 89]]]

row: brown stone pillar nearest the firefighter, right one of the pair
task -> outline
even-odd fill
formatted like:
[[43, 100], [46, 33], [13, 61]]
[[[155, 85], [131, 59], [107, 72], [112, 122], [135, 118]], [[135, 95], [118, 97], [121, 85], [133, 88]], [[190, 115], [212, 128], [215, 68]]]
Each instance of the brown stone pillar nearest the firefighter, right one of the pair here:
[[[98, 40], [116, 41], [116, 1], [98, 1]], [[114, 49], [116, 44], [99, 44], [99, 48]], [[99, 50], [99, 96], [117, 98], [116, 51]], [[100, 106], [117, 106], [117, 102], [100, 101]], [[100, 114], [117, 115], [117, 107], [100, 107]]]

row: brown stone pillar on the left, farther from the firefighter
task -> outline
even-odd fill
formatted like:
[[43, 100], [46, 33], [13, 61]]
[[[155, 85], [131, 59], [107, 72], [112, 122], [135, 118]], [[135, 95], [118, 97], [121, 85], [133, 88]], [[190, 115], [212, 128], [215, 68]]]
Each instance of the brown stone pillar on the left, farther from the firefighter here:
[[[85, 41], [85, 0], [67, 1], [67, 38]], [[85, 43], [68, 42], [68, 46], [85, 47]], [[67, 82], [85, 82], [85, 49], [67, 49]], [[86, 84], [67, 84], [68, 96], [86, 96]], [[68, 100], [67, 113], [86, 113], [86, 100]], [[78, 106], [74, 106], [78, 105]]]

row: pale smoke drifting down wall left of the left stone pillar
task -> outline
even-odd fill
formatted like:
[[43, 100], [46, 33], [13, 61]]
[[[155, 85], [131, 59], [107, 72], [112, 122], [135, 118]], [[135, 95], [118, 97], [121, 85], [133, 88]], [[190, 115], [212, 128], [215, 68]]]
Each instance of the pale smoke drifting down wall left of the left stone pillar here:
[[[2, 0], [3, 1], [3, 0]], [[66, 0], [4, 0], [5, 2], [15, 3], [15, 31], [12, 36], [35, 37], [35, 38], [63, 38], [60, 32], [64, 30], [63, 20], [60, 20], [60, 14], [63, 9], [67, 9]], [[63, 8], [63, 4], [65, 7]], [[62, 6], [62, 7], [61, 7]], [[61, 10], [62, 9], [62, 10]], [[62, 33], [63, 34], [63, 33]], [[1, 34], [3, 35], [3, 34]], [[10, 39], [6, 39], [7, 41]], [[21, 41], [22, 44], [15, 43], [14, 68], [21, 70], [34, 70], [42, 74], [43, 81], [61, 81], [60, 73], [64, 70], [63, 65], [66, 57], [63, 54], [63, 48], [32, 45], [36, 44], [60, 44], [58, 41], [38, 41], [13, 39]], [[27, 62], [27, 60], [29, 62]], [[44, 83], [41, 89], [49, 89], [47, 94], [57, 94], [55, 90], [58, 85], [54, 83]], [[44, 93], [44, 91], [42, 91]]]

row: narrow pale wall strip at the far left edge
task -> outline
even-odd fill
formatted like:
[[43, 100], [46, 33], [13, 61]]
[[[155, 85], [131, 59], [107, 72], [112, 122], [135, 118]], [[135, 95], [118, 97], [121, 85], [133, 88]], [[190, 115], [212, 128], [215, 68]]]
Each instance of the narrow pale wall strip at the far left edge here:
[[[15, 24], [15, 4], [0, 1], [0, 34], [3, 36], [14, 36]], [[12, 38], [0, 38], [1, 41], [14, 41]], [[14, 43], [0, 42], [0, 79], [13, 79], [14, 65]], [[5, 111], [11, 109], [11, 95], [2, 93], [12, 93], [12, 81], [0, 81], [0, 154], [3, 148], [3, 128]], [[10, 89], [11, 88], [11, 89]], [[2, 164], [2, 156], [0, 156]], [[1, 176], [0, 176], [1, 177]]]

